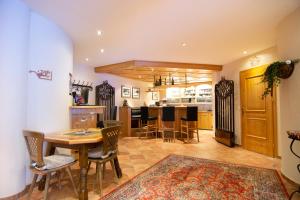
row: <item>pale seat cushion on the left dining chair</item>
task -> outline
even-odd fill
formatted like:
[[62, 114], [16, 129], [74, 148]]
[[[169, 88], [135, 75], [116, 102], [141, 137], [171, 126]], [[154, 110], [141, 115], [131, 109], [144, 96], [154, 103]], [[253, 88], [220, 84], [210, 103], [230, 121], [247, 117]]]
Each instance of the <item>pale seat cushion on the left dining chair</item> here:
[[33, 167], [35, 167], [37, 170], [49, 170], [62, 167], [75, 161], [75, 158], [73, 156], [59, 154], [45, 156], [43, 159], [45, 163], [43, 167], [37, 167], [35, 166], [35, 164], [33, 164]]

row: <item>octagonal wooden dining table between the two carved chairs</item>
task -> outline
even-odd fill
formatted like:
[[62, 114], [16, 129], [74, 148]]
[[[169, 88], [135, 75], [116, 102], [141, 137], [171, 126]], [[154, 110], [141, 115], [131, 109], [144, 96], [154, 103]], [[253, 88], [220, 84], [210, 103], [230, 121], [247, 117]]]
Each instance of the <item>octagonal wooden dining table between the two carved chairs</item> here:
[[87, 133], [82, 129], [71, 129], [45, 135], [47, 145], [47, 155], [54, 154], [55, 147], [75, 149], [79, 152], [79, 199], [88, 199], [87, 190], [87, 170], [88, 170], [88, 149], [94, 148], [102, 142], [101, 129], [90, 128]]

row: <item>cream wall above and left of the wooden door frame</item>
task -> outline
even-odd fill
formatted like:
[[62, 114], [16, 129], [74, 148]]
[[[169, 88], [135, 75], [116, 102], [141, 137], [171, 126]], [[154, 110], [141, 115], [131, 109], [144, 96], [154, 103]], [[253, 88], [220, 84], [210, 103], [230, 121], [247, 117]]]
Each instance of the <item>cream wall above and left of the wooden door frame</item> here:
[[[272, 63], [276, 60], [278, 60], [277, 49], [272, 47], [223, 66], [223, 71], [220, 73], [220, 77], [225, 76], [226, 79], [234, 81], [235, 142], [237, 144], [241, 144], [240, 72], [253, 67]], [[278, 146], [280, 147], [280, 145]], [[278, 152], [280, 152], [280, 148]]]

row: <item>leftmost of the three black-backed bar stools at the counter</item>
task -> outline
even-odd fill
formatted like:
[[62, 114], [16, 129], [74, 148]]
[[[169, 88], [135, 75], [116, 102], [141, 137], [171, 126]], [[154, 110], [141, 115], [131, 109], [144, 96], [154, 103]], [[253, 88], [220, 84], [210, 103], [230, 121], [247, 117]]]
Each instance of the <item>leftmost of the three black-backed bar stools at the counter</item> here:
[[155, 133], [157, 138], [158, 132], [158, 120], [156, 116], [149, 116], [149, 109], [147, 106], [141, 107], [141, 125], [142, 129], [145, 131], [139, 132], [145, 133], [146, 137], [148, 137], [148, 133]]

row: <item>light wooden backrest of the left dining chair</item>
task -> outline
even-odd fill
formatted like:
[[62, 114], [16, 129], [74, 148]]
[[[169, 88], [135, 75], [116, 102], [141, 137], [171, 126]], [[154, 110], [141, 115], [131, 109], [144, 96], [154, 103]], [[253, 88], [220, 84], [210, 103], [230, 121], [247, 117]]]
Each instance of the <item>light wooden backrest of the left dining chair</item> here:
[[26, 141], [31, 164], [35, 163], [37, 167], [43, 167], [45, 165], [43, 160], [44, 134], [40, 132], [24, 130], [23, 136]]

